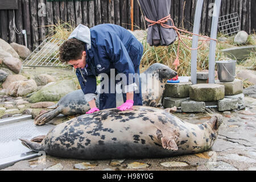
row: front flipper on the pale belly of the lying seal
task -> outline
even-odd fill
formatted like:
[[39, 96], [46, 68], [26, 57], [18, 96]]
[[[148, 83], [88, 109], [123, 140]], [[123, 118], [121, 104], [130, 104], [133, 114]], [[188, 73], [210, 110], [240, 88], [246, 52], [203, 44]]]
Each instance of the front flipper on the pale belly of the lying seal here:
[[156, 131], [156, 135], [158, 139], [161, 140], [163, 148], [167, 148], [168, 150], [178, 150], [177, 144], [175, 142], [176, 136], [163, 136], [162, 131]]

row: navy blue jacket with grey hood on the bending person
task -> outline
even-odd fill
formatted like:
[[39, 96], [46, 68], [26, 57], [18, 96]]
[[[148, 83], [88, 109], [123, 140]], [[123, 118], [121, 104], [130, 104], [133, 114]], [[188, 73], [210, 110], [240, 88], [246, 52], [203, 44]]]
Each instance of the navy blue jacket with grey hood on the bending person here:
[[[85, 37], [86, 33], [90, 34], [90, 37]], [[86, 68], [76, 69], [85, 96], [96, 94], [96, 76], [100, 73], [110, 73], [110, 69], [125, 73], [127, 85], [129, 84], [128, 74], [135, 73], [134, 65], [139, 64], [133, 63], [133, 57], [143, 51], [142, 44], [133, 34], [115, 24], [100, 24], [90, 29], [80, 24], [70, 38], [85, 42]]]

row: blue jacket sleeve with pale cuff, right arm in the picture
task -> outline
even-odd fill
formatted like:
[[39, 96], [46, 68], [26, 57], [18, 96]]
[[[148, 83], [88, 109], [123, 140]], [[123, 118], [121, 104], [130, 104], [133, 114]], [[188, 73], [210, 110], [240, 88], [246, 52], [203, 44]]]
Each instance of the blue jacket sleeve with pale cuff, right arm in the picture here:
[[[130, 59], [126, 47], [116, 34], [109, 32], [109, 36], [106, 39], [105, 44], [99, 45], [98, 51], [100, 51], [98, 55], [101, 55], [101, 60], [110, 60], [118, 73], [125, 74], [126, 82], [123, 82], [123, 85], [125, 85], [126, 93], [133, 92], [138, 89], [134, 79], [135, 71], [133, 62]], [[129, 75], [129, 73], [131, 74]]]

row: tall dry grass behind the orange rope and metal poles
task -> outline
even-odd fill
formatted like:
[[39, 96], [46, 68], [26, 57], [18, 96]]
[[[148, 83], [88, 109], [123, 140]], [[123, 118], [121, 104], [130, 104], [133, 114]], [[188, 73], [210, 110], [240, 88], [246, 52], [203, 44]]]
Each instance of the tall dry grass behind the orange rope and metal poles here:
[[[185, 44], [187, 44], [187, 46], [192, 47], [192, 40], [183, 39], [183, 41], [185, 42]], [[175, 69], [175, 66], [173, 65], [173, 63], [176, 59], [177, 45], [178, 45], [177, 40], [171, 46], [150, 47], [146, 42], [146, 38], [144, 38], [142, 41], [142, 44], [144, 46], [144, 53], [143, 53], [141, 64], [144, 67], [148, 67], [154, 63], [162, 63], [172, 69]], [[201, 42], [199, 42], [199, 46], [200, 45], [201, 45]], [[216, 61], [226, 59], [219, 47], [220, 45], [217, 43], [216, 57], [215, 57]], [[185, 46], [183, 46], [183, 44], [180, 44], [179, 61], [180, 61], [180, 65], [177, 68], [178, 75], [190, 76], [191, 51]], [[205, 45], [197, 51], [197, 71], [208, 69], [208, 63], [209, 63], [209, 43], [205, 43]]]

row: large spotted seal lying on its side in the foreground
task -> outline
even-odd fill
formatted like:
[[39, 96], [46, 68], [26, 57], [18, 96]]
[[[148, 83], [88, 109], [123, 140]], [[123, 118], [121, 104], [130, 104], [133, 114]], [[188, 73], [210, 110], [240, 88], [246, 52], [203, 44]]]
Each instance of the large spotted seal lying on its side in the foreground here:
[[20, 140], [32, 151], [63, 158], [165, 158], [209, 150], [221, 123], [220, 114], [195, 125], [166, 110], [133, 106], [80, 115], [55, 126], [41, 143]]

